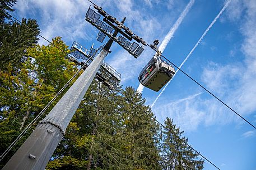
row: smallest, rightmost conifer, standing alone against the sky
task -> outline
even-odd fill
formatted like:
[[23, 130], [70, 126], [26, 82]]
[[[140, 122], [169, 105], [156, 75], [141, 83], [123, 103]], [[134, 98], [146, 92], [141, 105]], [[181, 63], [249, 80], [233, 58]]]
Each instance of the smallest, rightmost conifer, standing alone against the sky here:
[[[182, 137], [183, 131], [180, 132], [179, 128], [173, 124], [173, 120], [166, 118], [165, 126], [169, 130], [162, 130], [162, 143], [160, 147], [162, 148], [162, 169], [172, 170], [172, 169], [203, 169], [203, 160], [198, 159], [198, 153], [188, 147], [184, 142], [188, 142], [188, 139]], [[182, 139], [184, 142], [181, 142]]]

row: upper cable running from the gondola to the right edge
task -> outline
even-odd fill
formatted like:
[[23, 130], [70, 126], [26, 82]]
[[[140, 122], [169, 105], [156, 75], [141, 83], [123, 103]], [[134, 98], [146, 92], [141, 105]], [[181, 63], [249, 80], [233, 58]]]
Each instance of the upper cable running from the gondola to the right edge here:
[[[148, 44], [147, 44], [148, 45]], [[148, 45], [150, 46], [150, 45]], [[151, 47], [151, 46], [150, 46]], [[155, 49], [153, 49], [155, 50]], [[156, 51], [156, 50], [155, 50]], [[156, 51], [157, 52], [157, 51]], [[256, 129], [256, 127], [250, 123], [248, 120], [246, 120], [245, 118], [243, 118], [243, 116], [241, 116], [239, 113], [237, 113], [234, 109], [230, 108], [229, 105], [227, 105], [226, 103], [224, 103], [224, 101], [222, 101], [220, 98], [218, 98], [216, 95], [214, 95], [213, 93], [211, 93], [211, 91], [207, 90], [203, 85], [201, 85], [197, 80], [193, 79], [191, 76], [189, 76], [186, 72], [184, 72], [183, 70], [181, 70], [178, 66], [176, 66], [175, 64], [173, 64], [173, 62], [171, 62], [170, 60], [168, 60], [165, 56], [163, 56], [161, 54], [161, 56], [170, 62], [170, 64], [174, 65], [178, 70], [180, 70], [181, 72], [183, 72], [183, 74], [185, 74], [187, 77], [189, 77], [189, 79], [193, 80], [194, 82], [196, 82], [197, 85], [201, 86], [201, 88], [203, 88], [204, 90], [207, 91], [207, 93], [211, 94], [215, 99], [217, 99], [218, 101], [220, 101], [222, 104], [224, 104], [227, 108], [229, 108], [231, 111], [233, 111], [236, 115], [238, 115], [240, 118], [242, 118], [246, 123], [250, 124], [254, 129]]]

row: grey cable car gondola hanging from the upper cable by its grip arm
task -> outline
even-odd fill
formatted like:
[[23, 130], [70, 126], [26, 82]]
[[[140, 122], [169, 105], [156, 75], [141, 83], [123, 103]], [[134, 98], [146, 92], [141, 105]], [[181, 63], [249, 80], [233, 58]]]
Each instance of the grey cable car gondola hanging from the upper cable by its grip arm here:
[[147, 65], [139, 73], [139, 82], [143, 86], [154, 91], [159, 91], [175, 74], [174, 67], [161, 57], [161, 52], [157, 48], [159, 43], [154, 41], [152, 48], [156, 48], [157, 53], [147, 63]]

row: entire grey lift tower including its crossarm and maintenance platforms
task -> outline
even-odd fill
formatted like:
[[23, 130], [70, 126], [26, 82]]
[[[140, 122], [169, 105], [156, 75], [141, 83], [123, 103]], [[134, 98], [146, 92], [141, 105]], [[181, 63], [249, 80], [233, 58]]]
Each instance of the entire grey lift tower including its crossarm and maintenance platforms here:
[[[62, 139], [64, 133], [66, 132], [67, 126], [71, 121], [73, 115], [75, 114], [79, 104], [81, 103], [83, 96], [85, 95], [87, 89], [89, 88], [92, 80], [100, 67], [106, 70], [111, 70], [111, 66], [104, 63], [106, 55], [108, 55], [112, 43], [115, 41], [120, 46], [122, 46], [129, 54], [137, 58], [143, 52], [144, 48], [139, 47], [136, 42], [129, 42], [132, 39], [137, 42], [141, 42], [146, 45], [146, 42], [134, 35], [129, 28], [123, 25], [125, 18], [122, 22], [117, 21], [114, 17], [108, 15], [102, 8], [94, 6], [95, 9], [104, 16], [103, 21], [100, 21], [100, 14], [96, 13], [94, 10], [89, 8], [86, 13], [86, 21], [90, 22], [93, 26], [100, 30], [97, 40], [103, 42], [105, 36], [110, 37], [110, 40], [101, 49], [100, 53], [97, 54], [94, 60], [89, 61], [89, 65], [85, 71], [81, 74], [76, 82], [68, 89], [67, 93], [58, 101], [50, 113], [38, 124], [34, 132], [31, 133], [29, 138], [21, 145], [13, 157], [8, 161], [8, 163], [3, 167], [2, 170], [40, 170], [46, 167], [46, 164], [50, 160], [55, 148]], [[104, 24], [104, 26], [103, 26]], [[108, 25], [107, 25], [108, 24]], [[124, 30], [124, 32], [122, 31]], [[112, 30], [112, 31], [111, 31]], [[113, 32], [111, 34], [111, 32]], [[117, 38], [118, 33], [123, 36]], [[75, 46], [76, 45], [76, 46]], [[81, 56], [93, 56], [94, 50], [86, 51], [82, 46], [78, 47], [78, 43], [72, 46], [77, 54]], [[89, 52], [89, 54], [87, 54]], [[116, 72], [109, 71], [111, 75]], [[117, 76], [118, 77], [118, 76]]]

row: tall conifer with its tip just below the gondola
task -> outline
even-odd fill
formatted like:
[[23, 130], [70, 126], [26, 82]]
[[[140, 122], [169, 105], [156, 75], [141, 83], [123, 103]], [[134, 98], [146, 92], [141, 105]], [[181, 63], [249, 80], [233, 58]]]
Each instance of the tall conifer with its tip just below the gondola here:
[[132, 87], [125, 88], [123, 93], [128, 98], [124, 98], [122, 108], [124, 135], [128, 140], [125, 152], [130, 153], [134, 169], [160, 169], [159, 150], [156, 148], [159, 127], [150, 117], [153, 113], [145, 106], [145, 99], [142, 99], [141, 94]]

